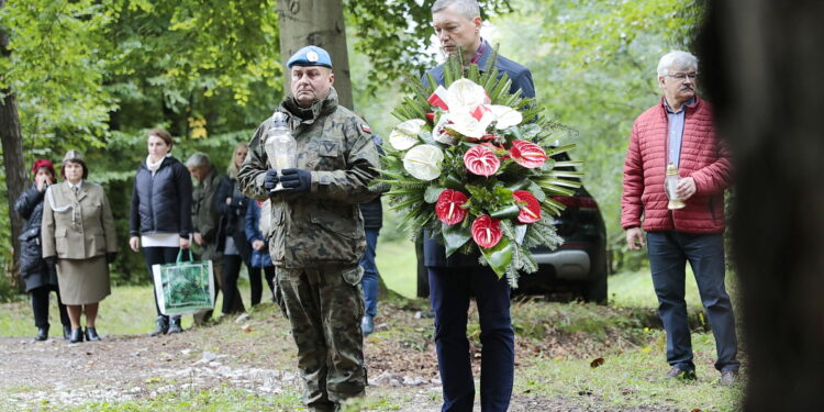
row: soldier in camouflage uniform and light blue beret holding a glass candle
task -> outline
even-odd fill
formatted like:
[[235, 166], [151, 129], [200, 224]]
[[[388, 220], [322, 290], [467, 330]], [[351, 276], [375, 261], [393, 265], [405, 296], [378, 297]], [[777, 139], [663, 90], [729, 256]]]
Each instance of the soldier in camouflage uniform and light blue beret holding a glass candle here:
[[[246, 196], [271, 199], [271, 232], [265, 235], [298, 345], [304, 403], [337, 411], [366, 386], [358, 265], [366, 240], [358, 203], [376, 196], [368, 186], [379, 158], [369, 127], [337, 104], [329, 53], [304, 47], [287, 67], [291, 94], [278, 110], [298, 141], [298, 167], [280, 175], [269, 167], [267, 120], [237, 177]], [[270, 194], [278, 181], [286, 190]]]

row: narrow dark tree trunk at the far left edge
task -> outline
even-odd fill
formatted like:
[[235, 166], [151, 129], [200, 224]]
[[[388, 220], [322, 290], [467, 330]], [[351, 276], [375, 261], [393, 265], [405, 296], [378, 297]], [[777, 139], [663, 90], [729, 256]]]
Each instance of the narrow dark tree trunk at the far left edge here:
[[[0, 0], [0, 9], [5, 7], [5, 0]], [[0, 27], [0, 58], [9, 58], [9, 33]], [[3, 75], [0, 75], [3, 76]], [[3, 99], [0, 102], [0, 138], [3, 145], [3, 167], [5, 168], [5, 188], [9, 202], [9, 222], [11, 223], [12, 261], [9, 275], [12, 285], [22, 290], [20, 282], [20, 241], [18, 236], [23, 230], [23, 220], [14, 213], [14, 201], [18, 200], [25, 189], [25, 164], [23, 163], [23, 137], [20, 133], [20, 116], [18, 105], [14, 102], [14, 93], [11, 89], [0, 90]]]

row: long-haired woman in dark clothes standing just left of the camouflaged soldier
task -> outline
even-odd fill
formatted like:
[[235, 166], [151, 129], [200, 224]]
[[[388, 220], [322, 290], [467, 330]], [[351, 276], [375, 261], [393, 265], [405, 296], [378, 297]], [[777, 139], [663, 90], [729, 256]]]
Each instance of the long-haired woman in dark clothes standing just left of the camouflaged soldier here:
[[[249, 270], [249, 281], [254, 297], [255, 280], [253, 279], [249, 257], [252, 245], [246, 241], [245, 216], [248, 198], [241, 193], [237, 186], [237, 170], [246, 159], [249, 148], [245, 143], [238, 143], [232, 154], [232, 162], [226, 168], [226, 177], [221, 182], [218, 196], [214, 198], [218, 213], [221, 214], [223, 235], [226, 236], [223, 248], [223, 314], [243, 312], [243, 301], [237, 290], [237, 278], [241, 275], [241, 263], [246, 264]], [[260, 274], [257, 274], [257, 288], [260, 289]], [[259, 302], [259, 299], [258, 299]], [[253, 304], [254, 298], [253, 298]]]

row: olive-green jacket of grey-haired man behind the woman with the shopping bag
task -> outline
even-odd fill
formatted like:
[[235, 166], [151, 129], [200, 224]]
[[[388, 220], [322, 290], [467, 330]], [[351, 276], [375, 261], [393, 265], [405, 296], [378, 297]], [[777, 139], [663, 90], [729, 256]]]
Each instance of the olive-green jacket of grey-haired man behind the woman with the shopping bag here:
[[221, 214], [218, 213], [215, 197], [221, 186], [221, 176], [214, 170], [194, 187], [192, 192], [192, 232], [203, 237], [201, 258], [218, 259], [223, 255], [224, 236], [221, 236]]

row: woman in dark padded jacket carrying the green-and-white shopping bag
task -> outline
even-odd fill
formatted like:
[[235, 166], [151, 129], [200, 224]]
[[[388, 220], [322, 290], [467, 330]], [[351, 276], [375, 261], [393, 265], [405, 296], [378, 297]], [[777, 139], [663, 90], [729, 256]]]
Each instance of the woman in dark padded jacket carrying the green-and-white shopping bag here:
[[[181, 248], [189, 248], [191, 232], [192, 185], [189, 169], [171, 156], [171, 134], [154, 129], [147, 137], [148, 156], [137, 169], [132, 192], [129, 246], [141, 249], [146, 259], [148, 276], [154, 281], [152, 266], [170, 264]], [[155, 294], [157, 327], [149, 335], [182, 332], [180, 316], [160, 313]]]

